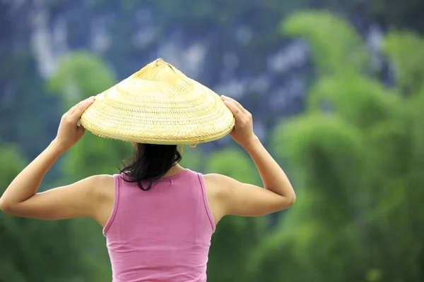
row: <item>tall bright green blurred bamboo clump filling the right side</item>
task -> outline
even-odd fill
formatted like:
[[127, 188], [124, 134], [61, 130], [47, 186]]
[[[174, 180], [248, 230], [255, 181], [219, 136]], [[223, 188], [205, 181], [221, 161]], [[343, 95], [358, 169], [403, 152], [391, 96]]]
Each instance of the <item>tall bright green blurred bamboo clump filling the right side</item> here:
[[363, 43], [340, 18], [305, 11], [283, 27], [310, 42], [317, 80], [305, 114], [273, 134], [276, 154], [295, 171], [298, 201], [252, 257], [257, 277], [422, 281], [423, 39], [387, 36], [398, 73], [388, 90], [365, 76], [366, 60], [350, 61]]

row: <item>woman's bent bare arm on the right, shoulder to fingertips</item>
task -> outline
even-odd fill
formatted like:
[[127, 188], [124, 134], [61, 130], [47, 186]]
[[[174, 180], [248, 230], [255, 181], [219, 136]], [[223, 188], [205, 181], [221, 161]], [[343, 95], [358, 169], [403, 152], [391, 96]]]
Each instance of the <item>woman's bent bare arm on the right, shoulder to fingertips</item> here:
[[219, 174], [205, 176], [206, 181], [219, 191], [216, 194], [220, 203], [218, 214], [261, 216], [287, 209], [295, 202], [295, 192], [283, 169], [254, 135], [252, 114], [234, 99], [222, 98], [235, 116], [235, 128], [230, 136], [252, 157], [264, 188]]

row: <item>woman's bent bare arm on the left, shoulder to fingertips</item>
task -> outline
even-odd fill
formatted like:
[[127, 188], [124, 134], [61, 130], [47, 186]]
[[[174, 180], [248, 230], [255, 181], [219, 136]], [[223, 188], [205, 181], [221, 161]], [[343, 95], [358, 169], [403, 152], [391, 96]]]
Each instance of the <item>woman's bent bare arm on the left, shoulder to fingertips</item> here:
[[42, 179], [54, 162], [82, 137], [84, 129], [77, 122], [92, 102], [93, 99], [84, 100], [64, 114], [57, 137], [8, 186], [0, 198], [0, 209], [15, 216], [36, 219], [95, 216], [93, 186], [105, 176], [90, 177], [72, 185], [37, 193]]

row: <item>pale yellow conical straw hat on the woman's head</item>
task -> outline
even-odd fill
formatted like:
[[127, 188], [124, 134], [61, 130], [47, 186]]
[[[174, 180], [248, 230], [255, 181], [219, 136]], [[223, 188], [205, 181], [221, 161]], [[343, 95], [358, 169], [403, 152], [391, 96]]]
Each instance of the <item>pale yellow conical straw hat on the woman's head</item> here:
[[81, 116], [100, 137], [162, 145], [217, 140], [234, 122], [218, 94], [163, 59], [98, 94]]

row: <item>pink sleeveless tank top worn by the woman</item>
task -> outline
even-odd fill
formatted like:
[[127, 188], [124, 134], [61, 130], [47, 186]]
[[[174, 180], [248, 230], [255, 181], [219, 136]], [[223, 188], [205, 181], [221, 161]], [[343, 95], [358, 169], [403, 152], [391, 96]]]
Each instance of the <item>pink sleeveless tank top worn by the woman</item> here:
[[201, 173], [185, 169], [149, 191], [114, 177], [103, 234], [113, 282], [206, 281], [215, 222]]

